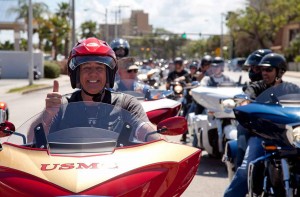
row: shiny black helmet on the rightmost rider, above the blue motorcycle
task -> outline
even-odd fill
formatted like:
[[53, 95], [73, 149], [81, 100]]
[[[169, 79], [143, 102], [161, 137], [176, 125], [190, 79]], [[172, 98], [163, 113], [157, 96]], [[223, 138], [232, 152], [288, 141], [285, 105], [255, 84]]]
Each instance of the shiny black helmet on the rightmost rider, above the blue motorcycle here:
[[259, 63], [259, 66], [271, 66], [276, 68], [277, 77], [281, 78], [287, 70], [286, 59], [278, 53], [269, 53], [265, 55]]

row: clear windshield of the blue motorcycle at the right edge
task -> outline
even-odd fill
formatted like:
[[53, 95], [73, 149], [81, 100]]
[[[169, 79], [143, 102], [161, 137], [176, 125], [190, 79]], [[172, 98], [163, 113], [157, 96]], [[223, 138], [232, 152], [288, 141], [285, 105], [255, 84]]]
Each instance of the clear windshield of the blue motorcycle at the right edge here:
[[276, 103], [276, 100], [281, 104], [300, 103], [300, 88], [295, 84], [283, 82], [268, 88], [256, 98], [259, 103]]

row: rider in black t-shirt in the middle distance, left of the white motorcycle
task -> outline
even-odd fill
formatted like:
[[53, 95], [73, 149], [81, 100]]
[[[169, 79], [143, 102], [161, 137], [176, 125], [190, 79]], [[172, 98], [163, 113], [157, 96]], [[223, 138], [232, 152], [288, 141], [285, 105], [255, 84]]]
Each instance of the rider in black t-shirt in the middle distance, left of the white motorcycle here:
[[166, 89], [170, 89], [171, 82], [182, 82], [188, 83], [189, 73], [183, 67], [183, 59], [181, 57], [176, 57], [174, 59], [175, 70], [170, 72], [167, 78]]

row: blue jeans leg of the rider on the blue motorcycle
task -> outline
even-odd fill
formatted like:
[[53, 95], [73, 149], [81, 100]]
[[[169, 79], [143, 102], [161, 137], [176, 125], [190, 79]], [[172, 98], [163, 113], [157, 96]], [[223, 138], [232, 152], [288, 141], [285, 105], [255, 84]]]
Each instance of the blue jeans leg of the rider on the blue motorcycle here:
[[248, 147], [246, 149], [242, 165], [235, 172], [230, 185], [224, 193], [224, 197], [246, 196], [246, 194], [248, 193], [247, 174], [249, 163], [265, 154], [264, 149], [261, 145], [262, 141], [262, 138], [256, 136], [251, 136], [249, 138]]

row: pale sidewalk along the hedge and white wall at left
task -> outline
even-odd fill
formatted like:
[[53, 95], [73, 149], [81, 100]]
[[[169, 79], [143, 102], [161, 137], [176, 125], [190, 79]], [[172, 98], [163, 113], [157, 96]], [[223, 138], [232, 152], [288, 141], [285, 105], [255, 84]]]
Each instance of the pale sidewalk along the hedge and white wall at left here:
[[[40, 89], [52, 88], [53, 80], [57, 80], [60, 85], [70, 84], [70, 78], [68, 75], [60, 75], [56, 79], [43, 78], [43, 79], [39, 79], [39, 80], [34, 80], [33, 84], [43, 84], [43, 85], [45, 85], [45, 87], [28, 90], [26, 92], [23, 92], [23, 94], [26, 94], [26, 93], [29, 93], [32, 91], [37, 91]], [[12, 88], [19, 88], [19, 87], [26, 86], [28, 84], [29, 84], [28, 79], [0, 79], [0, 97], [3, 94], [7, 94], [7, 92]]]

